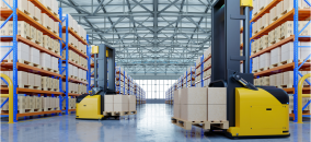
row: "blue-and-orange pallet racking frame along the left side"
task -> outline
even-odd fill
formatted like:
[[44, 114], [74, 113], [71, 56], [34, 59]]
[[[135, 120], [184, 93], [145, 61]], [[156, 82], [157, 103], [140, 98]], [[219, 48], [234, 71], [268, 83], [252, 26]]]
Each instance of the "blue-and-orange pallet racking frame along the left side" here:
[[[49, 11], [45, 5], [43, 5], [38, 0], [28, 0], [31, 1], [35, 7], [37, 7], [42, 13], [45, 13], [47, 14], [49, 17], [53, 19], [54, 22], [58, 22], [58, 25], [59, 25], [59, 36], [49, 31], [47, 27], [41, 25], [37, 21], [35, 21], [34, 19], [32, 19], [30, 15], [23, 13], [22, 11], [19, 10], [18, 8], [18, 0], [13, 0], [13, 7], [10, 7], [8, 4], [8, 2], [5, 2], [4, 0], [2, 0], [9, 8], [10, 10], [8, 9], [1, 9], [0, 10], [0, 14], [1, 14], [1, 17], [4, 17], [7, 19], [2, 24], [1, 24], [1, 28], [8, 23], [8, 21], [12, 21], [13, 22], [13, 35], [11, 36], [1, 36], [1, 42], [13, 42], [13, 45], [12, 46], [7, 46], [7, 47], [10, 47], [11, 49], [4, 55], [4, 57], [1, 58], [1, 71], [12, 71], [13, 72], [13, 106], [9, 106], [9, 107], [13, 107], [13, 117], [12, 118], [9, 118], [9, 119], [12, 119], [13, 122], [18, 122], [18, 119], [19, 117], [25, 117], [25, 116], [37, 116], [37, 115], [46, 115], [46, 114], [59, 114], [61, 115], [62, 111], [66, 111], [66, 115], [68, 115], [68, 111], [74, 111], [74, 109], [69, 109], [68, 107], [68, 97], [69, 96], [78, 96], [80, 94], [72, 94], [72, 93], [68, 93], [68, 92], [62, 92], [61, 91], [61, 82], [62, 80], [66, 80], [66, 87], [68, 88], [68, 82], [71, 81], [71, 82], [77, 82], [77, 83], [84, 83], [80, 80], [77, 80], [77, 79], [70, 79], [68, 76], [68, 69], [67, 67], [61, 67], [61, 63], [62, 63], [62, 59], [61, 59], [61, 51], [60, 51], [60, 55], [51, 51], [51, 50], [48, 50], [46, 48], [44, 48], [43, 46], [41, 45], [37, 45], [35, 44], [34, 42], [31, 42], [30, 39], [26, 39], [24, 37], [21, 37], [18, 35], [18, 21], [24, 21], [26, 22], [27, 24], [32, 25], [33, 27], [35, 27], [37, 31], [42, 32], [44, 35], [47, 35], [48, 37], [50, 38], [54, 38], [54, 39], [57, 39], [60, 44], [60, 46], [62, 45], [64, 40], [61, 40], [61, 22], [65, 21], [62, 20], [61, 15], [62, 15], [62, 11], [61, 9], [59, 9], [59, 16], [58, 17], [56, 14], [54, 14], [51, 11]], [[65, 27], [66, 28], [66, 27]], [[68, 28], [66, 29], [66, 34], [67, 34], [67, 37], [68, 37]], [[74, 34], [74, 33], [72, 33]], [[76, 34], [77, 35], [77, 34]], [[77, 35], [77, 37], [79, 37]], [[32, 67], [30, 64], [24, 64], [22, 62], [18, 62], [18, 42], [21, 42], [21, 43], [24, 43], [31, 47], [34, 47], [36, 49], [38, 49], [41, 52], [46, 52], [53, 57], [56, 57], [58, 58], [58, 62], [59, 62], [59, 72], [54, 72], [54, 71], [48, 71], [48, 70], [43, 70], [41, 68], [36, 68], [36, 67]], [[64, 43], [65, 44], [65, 43]], [[87, 42], [83, 43], [84, 45], [88, 45]], [[68, 47], [68, 43], [65, 44], [65, 48], [66, 50], [68, 50], [68, 48], [72, 48], [72, 47]], [[1, 46], [3, 47], [3, 46]], [[62, 47], [62, 46], [61, 46]], [[60, 49], [62, 49], [61, 47], [59, 47]], [[74, 48], [72, 48], [74, 50]], [[13, 52], [13, 62], [2, 62], [5, 57], [8, 57], [8, 55], [10, 52]], [[79, 50], [77, 50], [77, 52], [79, 52]], [[81, 51], [79, 52], [81, 56], [84, 56], [84, 57], [88, 57], [87, 55], [84, 54], [81, 54]], [[68, 51], [67, 51], [67, 57], [68, 57]], [[67, 58], [68, 59], [68, 58]], [[72, 63], [72, 62], [69, 62], [68, 60], [66, 61], [66, 64], [68, 66], [68, 63]], [[73, 66], [77, 66], [77, 67], [80, 67], [79, 64], [76, 64], [76, 63], [72, 63]], [[81, 67], [80, 67], [81, 68]], [[81, 68], [83, 70], [88, 70], [85, 68]], [[62, 71], [66, 70], [66, 76], [62, 76]], [[31, 73], [34, 73], [34, 74], [39, 74], [39, 75], [43, 75], [43, 76], [50, 76], [53, 79], [58, 79], [59, 80], [59, 88], [60, 88], [60, 92], [56, 92], [56, 91], [41, 91], [41, 90], [32, 90], [32, 88], [21, 88], [21, 87], [18, 87], [18, 71], [25, 71], [25, 72], [31, 72]], [[3, 80], [3, 79], [2, 79]], [[1, 87], [1, 93], [5, 93], [8, 92], [9, 88], [8, 87]], [[68, 90], [67, 90], [68, 91]], [[35, 95], [37, 97], [41, 97], [41, 96], [51, 96], [51, 97], [57, 97], [59, 98], [59, 108], [62, 108], [62, 99], [66, 99], [66, 109], [60, 109], [60, 110], [49, 110], [49, 111], [35, 111], [35, 113], [25, 113], [25, 114], [19, 114], [18, 113], [18, 94], [28, 94], [28, 95]], [[62, 98], [64, 96], [64, 98]], [[8, 98], [9, 99], [9, 98]], [[5, 102], [4, 102], [5, 103]], [[4, 105], [1, 104], [1, 106]], [[1, 116], [8, 116], [8, 114], [1, 114]]]

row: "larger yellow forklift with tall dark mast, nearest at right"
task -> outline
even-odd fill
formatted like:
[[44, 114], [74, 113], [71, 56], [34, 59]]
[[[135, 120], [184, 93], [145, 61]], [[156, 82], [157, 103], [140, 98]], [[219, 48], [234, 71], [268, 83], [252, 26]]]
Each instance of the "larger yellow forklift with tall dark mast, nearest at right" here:
[[[250, 73], [250, 9], [252, 0], [217, 0], [211, 9], [211, 82], [227, 87], [229, 138], [289, 137], [288, 94], [275, 86], [254, 86]], [[243, 56], [240, 21], [243, 20]], [[243, 73], [240, 62], [243, 61]]]

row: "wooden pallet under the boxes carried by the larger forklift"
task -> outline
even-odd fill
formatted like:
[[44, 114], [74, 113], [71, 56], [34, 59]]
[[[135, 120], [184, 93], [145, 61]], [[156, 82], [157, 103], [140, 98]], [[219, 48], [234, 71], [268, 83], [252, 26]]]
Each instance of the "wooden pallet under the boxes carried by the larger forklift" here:
[[185, 130], [192, 130], [192, 126], [209, 130], [211, 127], [219, 129], [229, 129], [229, 121], [186, 121], [180, 118], [172, 117], [171, 122]]

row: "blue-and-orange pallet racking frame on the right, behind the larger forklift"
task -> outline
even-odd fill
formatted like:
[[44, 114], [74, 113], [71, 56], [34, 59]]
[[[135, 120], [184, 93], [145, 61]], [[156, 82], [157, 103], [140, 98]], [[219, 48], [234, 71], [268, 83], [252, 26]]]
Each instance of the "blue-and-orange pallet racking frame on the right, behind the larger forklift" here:
[[[265, 13], [269, 13], [269, 10], [273, 9], [274, 7], [276, 7], [279, 2], [281, 2], [283, 0], [273, 0], [268, 5], [266, 5], [261, 12], [258, 12], [252, 20], [251, 20], [251, 27], [252, 24], [254, 22], [256, 22], [257, 20], [260, 20]], [[307, 4], [309, 7], [311, 7], [310, 2], [308, 0], [303, 0], [301, 2], [307, 2]], [[298, 52], [299, 52], [299, 48], [311, 48], [311, 47], [302, 47], [302, 46], [298, 46], [298, 42], [310, 42], [311, 37], [309, 36], [301, 36], [300, 33], [310, 24], [310, 20], [308, 20], [308, 24], [301, 29], [298, 29], [298, 21], [304, 21], [310, 17], [310, 13], [311, 10], [310, 9], [299, 9], [298, 8], [298, 0], [293, 0], [293, 9], [291, 11], [288, 11], [286, 14], [281, 15], [280, 17], [278, 17], [276, 21], [274, 21], [273, 23], [270, 23], [268, 26], [266, 26], [265, 28], [263, 28], [262, 31], [260, 31], [258, 33], [256, 33], [255, 35], [253, 35], [251, 37], [251, 43], [254, 42], [254, 39], [257, 39], [260, 37], [262, 37], [263, 35], [267, 35], [268, 32], [273, 31], [274, 28], [276, 28], [277, 26], [280, 26], [283, 23], [287, 22], [287, 21], [293, 21], [293, 35], [291, 35], [290, 37], [287, 37], [285, 39], [281, 39], [280, 42], [256, 52], [253, 54], [251, 56], [251, 60], [254, 57], [257, 57], [260, 55], [263, 55], [265, 52], [269, 52], [272, 49], [275, 49], [281, 45], [285, 45], [289, 42], [293, 42], [293, 62], [291, 63], [287, 63], [287, 64], [283, 64], [276, 68], [272, 68], [265, 71], [260, 71], [254, 73], [255, 78], [260, 78], [260, 76], [266, 76], [266, 75], [270, 75], [270, 74], [275, 74], [275, 73], [281, 73], [285, 71], [293, 71], [293, 87], [290, 88], [284, 88], [284, 91], [286, 91], [287, 93], [292, 93], [293, 94], [293, 113], [290, 114], [290, 117], [293, 117], [293, 121], [297, 122], [297, 111], [298, 111], [298, 103], [297, 103], [297, 94], [298, 94], [298, 78], [302, 76], [302, 74], [299, 71], [302, 70], [307, 70], [310, 71], [310, 62], [307, 62], [310, 59], [309, 55], [307, 57], [307, 59], [303, 59], [303, 61], [299, 61], [298, 59]], [[251, 14], [252, 15], [252, 14]], [[252, 34], [252, 29], [251, 29], [251, 34]], [[252, 49], [251, 45], [250, 45], [250, 50]], [[251, 61], [251, 68], [252, 68], [252, 61]], [[307, 81], [308, 82], [308, 81]], [[308, 82], [310, 85], [310, 82]], [[310, 93], [310, 87], [303, 87], [302, 88], [303, 92], [308, 92]], [[311, 100], [309, 100], [304, 106], [303, 109], [310, 104]], [[303, 114], [303, 115], [311, 115], [311, 114]]]

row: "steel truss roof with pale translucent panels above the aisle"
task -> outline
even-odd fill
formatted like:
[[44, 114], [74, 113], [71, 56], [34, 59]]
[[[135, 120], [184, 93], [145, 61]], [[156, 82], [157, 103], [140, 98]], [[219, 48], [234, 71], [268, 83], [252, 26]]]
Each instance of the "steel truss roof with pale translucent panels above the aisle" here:
[[181, 74], [210, 46], [214, 0], [58, 0], [129, 74]]

